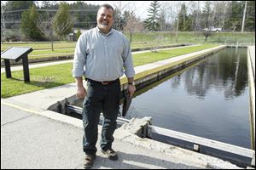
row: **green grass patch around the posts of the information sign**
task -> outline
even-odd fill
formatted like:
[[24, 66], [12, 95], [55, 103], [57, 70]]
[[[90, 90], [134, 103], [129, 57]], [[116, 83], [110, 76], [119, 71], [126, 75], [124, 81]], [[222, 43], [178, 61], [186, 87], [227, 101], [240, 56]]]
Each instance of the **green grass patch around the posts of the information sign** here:
[[30, 69], [30, 81], [24, 82], [23, 71], [13, 71], [12, 78], [1, 74], [1, 98], [26, 94], [74, 82], [72, 63]]

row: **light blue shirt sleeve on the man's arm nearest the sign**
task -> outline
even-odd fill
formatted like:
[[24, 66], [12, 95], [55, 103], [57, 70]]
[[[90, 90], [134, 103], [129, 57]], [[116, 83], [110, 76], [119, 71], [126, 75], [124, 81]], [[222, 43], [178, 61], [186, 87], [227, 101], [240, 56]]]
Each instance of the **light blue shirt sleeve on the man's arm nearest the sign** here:
[[73, 77], [83, 77], [86, 62], [86, 34], [82, 34], [76, 44], [73, 56]]

